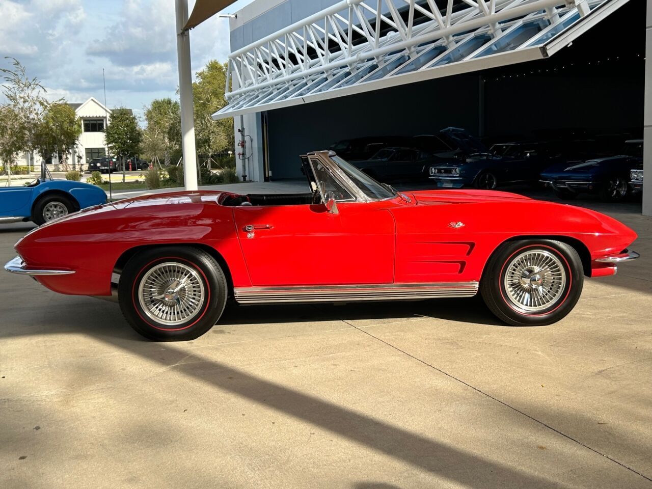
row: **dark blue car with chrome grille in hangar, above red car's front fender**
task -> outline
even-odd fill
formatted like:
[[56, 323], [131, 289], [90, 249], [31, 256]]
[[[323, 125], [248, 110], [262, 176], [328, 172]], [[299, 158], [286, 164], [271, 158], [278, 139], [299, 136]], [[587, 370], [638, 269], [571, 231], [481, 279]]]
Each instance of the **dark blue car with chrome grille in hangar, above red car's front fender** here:
[[491, 190], [501, 185], [535, 183], [549, 162], [542, 143], [499, 143], [488, 154], [431, 166], [429, 175], [441, 188], [472, 186]]

